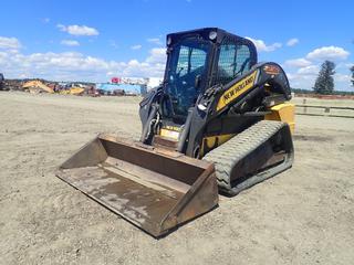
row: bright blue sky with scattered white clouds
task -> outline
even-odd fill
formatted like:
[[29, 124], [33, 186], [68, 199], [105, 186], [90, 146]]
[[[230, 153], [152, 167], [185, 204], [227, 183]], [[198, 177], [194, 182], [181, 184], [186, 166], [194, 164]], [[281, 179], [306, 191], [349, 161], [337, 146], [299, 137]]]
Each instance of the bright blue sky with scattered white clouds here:
[[166, 34], [217, 26], [251, 39], [259, 61], [279, 63], [292, 87], [311, 89], [331, 60], [335, 89], [353, 92], [353, 10], [352, 0], [4, 0], [0, 72], [53, 81], [162, 77]]

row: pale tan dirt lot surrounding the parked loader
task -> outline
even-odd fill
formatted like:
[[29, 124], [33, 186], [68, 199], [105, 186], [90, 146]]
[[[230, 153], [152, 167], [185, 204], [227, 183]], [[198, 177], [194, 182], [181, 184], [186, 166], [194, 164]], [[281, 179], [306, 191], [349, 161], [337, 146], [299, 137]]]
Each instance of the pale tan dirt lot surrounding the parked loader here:
[[291, 170], [156, 241], [54, 176], [100, 131], [136, 139], [137, 103], [0, 93], [1, 264], [353, 264], [354, 119], [299, 116]]

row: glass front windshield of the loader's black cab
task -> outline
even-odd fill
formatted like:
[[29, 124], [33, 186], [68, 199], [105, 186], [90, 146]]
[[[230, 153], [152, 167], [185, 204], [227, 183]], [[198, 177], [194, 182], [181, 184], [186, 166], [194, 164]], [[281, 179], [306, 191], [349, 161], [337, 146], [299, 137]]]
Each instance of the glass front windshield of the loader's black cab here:
[[188, 108], [195, 104], [199, 84], [205, 80], [209, 49], [208, 42], [196, 38], [185, 39], [174, 46], [167, 73], [167, 92], [174, 115], [187, 116]]

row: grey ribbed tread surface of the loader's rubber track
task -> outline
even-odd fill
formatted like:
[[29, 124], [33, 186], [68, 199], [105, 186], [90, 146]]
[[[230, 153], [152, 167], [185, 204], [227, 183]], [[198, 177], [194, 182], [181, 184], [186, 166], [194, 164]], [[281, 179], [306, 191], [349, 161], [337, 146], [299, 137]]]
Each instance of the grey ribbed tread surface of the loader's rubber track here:
[[[202, 159], [215, 163], [219, 188], [227, 193], [233, 193], [230, 183], [232, 168], [283, 126], [285, 124], [281, 121], [261, 120], [208, 152]], [[247, 188], [249, 187], [244, 189]]]

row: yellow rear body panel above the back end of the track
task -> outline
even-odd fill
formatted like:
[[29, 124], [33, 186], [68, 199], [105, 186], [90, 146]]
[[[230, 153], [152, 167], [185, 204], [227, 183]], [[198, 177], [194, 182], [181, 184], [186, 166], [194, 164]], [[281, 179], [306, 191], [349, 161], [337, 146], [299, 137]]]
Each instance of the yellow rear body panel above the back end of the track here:
[[291, 134], [295, 129], [295, 105], [291, 103], [283, 103], [270, 108], [271, 114], [267, 114], [264, 119], [268, 120], [281, 120], [289, 124]]

